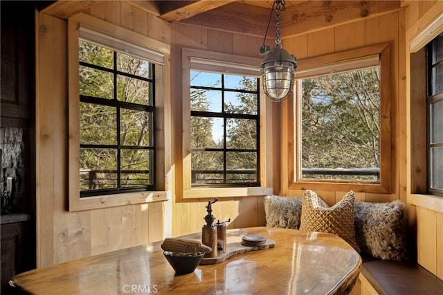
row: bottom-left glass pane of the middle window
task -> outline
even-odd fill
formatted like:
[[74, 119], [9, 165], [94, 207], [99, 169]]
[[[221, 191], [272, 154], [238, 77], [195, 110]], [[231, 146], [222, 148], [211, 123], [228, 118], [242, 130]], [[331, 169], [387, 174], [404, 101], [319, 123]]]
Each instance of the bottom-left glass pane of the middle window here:
[[192, 152], [191, 175], [193, 184], [223, 183], [223, 152]]

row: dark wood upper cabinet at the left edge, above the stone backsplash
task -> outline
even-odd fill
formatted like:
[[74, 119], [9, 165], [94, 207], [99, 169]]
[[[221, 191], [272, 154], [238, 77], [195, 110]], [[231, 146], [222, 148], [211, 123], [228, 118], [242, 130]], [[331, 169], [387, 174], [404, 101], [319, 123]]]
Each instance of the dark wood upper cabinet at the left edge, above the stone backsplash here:
[[0, 1], [0, 6], [1, 118], [11, 125], [13, 119], [30, 118], [35, 93], [35, 2]]

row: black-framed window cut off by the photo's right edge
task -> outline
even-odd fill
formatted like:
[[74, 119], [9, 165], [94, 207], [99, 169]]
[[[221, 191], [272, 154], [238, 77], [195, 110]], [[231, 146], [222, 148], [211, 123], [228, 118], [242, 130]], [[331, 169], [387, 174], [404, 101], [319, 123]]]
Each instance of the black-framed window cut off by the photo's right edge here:
[[428, 190], [443, 195], [443, 33], [427, 46]]

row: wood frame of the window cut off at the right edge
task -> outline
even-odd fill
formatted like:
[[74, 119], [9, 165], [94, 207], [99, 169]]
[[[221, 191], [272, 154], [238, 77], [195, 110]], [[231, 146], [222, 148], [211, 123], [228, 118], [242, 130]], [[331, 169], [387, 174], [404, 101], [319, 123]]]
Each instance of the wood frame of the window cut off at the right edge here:
[[[413, 30], [414, 29], [414, 30]], [[443, 197], [427, 192], [426, 159], [426, 44], [443, 33], [443, 13], [428, 10], [407, 31], [407, 202], [425, 210], [443, 213]]]

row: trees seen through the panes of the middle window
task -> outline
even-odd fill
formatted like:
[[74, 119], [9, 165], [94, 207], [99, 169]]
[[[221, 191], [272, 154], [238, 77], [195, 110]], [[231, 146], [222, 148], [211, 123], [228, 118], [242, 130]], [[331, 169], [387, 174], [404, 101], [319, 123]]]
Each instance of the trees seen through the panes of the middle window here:
[[[221, 84], [215, 81], [215, 85]], [[253, 91], [257, 89], [257, 79], [242, 77], [237, 89]], [[225, 99], [226, 94], [225, 92]], [[225, 103], [224, 111], [230, 114], [257, 114], [257, 94], [245, 92], [233, 92], [235, 101]], [[192, 89], [191, 109], [210, 111], [210, 102], [205, 89]], [[191, 147], [193, 148], [191, 163], [192, 171], [196, 170], [220, 170], [224, 169], [223, 152], [205, 151], [206, 148], [223, 148], [223, 141], [215, 141], [215, 129], [220, 123], [215, 124], [221, 118], [214, 117], [191, 117]], [[217, 130], [221, 132], [221, 130]], [[257, 148], [257, 121], [248, 118], [226, 118], [226, 148], [228, 150], [255, 150]], [[237, 170], [238, 173], [228, 173], [228, 182], [251, 182], [257, 181], [257, 152], [226, 152], [226, 169]], [[249, 169], [252, 174], [244, 174], [242, 170]], [[199, 173], [197, 182], [222, 183], [223, 174]]]

